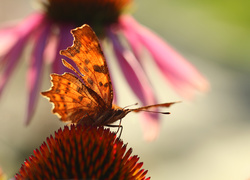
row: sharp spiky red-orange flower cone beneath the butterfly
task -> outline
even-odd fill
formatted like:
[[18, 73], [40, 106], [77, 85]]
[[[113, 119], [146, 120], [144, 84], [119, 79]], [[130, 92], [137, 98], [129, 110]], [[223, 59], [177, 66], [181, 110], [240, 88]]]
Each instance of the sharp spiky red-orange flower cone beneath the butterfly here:
[[150, 179], [126, 148], [103, 127], [65, 126], [34, 150], [15, 179]]

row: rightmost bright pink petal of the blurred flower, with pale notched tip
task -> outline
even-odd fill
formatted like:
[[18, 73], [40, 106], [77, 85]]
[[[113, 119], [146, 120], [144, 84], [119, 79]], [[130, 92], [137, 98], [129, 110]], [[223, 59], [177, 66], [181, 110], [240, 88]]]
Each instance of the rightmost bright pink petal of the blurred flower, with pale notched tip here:
[[[133, 17], [121, 16], [119, 23], [124, 32], [131, 33], [133, 31], [134, 35], [136, 34], [140, 43], [148, 49], [155, 59], [164, 77], [182, 96], [191, 98], [194, 90], [207, 91], [209, 89], [209, 83], [194, 66], [160, 37], [136, 22]], [[132, 41], [130, 43], [134, 44]]]

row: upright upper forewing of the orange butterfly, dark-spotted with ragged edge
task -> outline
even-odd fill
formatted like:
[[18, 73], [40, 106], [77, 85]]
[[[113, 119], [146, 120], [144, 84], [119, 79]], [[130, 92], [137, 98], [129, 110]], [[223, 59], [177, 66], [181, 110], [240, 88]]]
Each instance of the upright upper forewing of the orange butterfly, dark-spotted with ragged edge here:
[[[107, 108], [111, 108], [112, 84], [106, 60], [95, 32], [88, 25], [83, 25], [72, 30], [71, 33], [74, 36], [73, 45], [60, 53], [74, 61], [81, 73], [78, 73], [78, 76], [85, 85], [98, 94]], [[64, 61], [64, 65], [76, 72], [66, 61]]]

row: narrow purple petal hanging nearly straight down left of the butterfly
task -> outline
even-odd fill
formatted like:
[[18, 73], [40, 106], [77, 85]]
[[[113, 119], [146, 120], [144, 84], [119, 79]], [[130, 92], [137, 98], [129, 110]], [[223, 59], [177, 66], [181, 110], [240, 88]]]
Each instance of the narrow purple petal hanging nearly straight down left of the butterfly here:
[[34, 109], [37, 104], [37, 96], [41, 83], [41, 76], [43, 70], [44, 49], [47, 43], [51, 24], [48, 22], [43, 23], [43, 27], [35, 35], [34, 48], [31, 54], [30, 67], [27, 72], [27, 85], [29, 93], [27, 117], [25, 124], [28, 125], [33, 115]]

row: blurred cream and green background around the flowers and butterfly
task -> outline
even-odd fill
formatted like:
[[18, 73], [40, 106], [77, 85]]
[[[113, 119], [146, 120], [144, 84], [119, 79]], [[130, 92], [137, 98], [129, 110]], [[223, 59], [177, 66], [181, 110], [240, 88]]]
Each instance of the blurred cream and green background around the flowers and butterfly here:
[[[30, 0], [1, 0], [0, 22], [22, 19], [34, 5]], [[182, 100], [171, 107], [171, 115], [161, 116], [160, 136], [153, 142], [143, 140], [140, 115], [123, 120], [122, 138], [152, 179], [250, 178], [249, 5], [247, 0], [135, 1], [135, 18], [161, 35], [211, 83], [210, 92], [188, 101], [163, 83], [153, 63], [148, 65], [159, 101]], [[8, 177], [47, 136], [63, 127], [43, 97], [31, 124], [24, 126], [28, 55], [22, 58], [0, 100], [0, 166]], [[43, 90], [50, 87], [46, 69]], [[115, 63], [111, 71], [119, 105], [138, 102]]]

